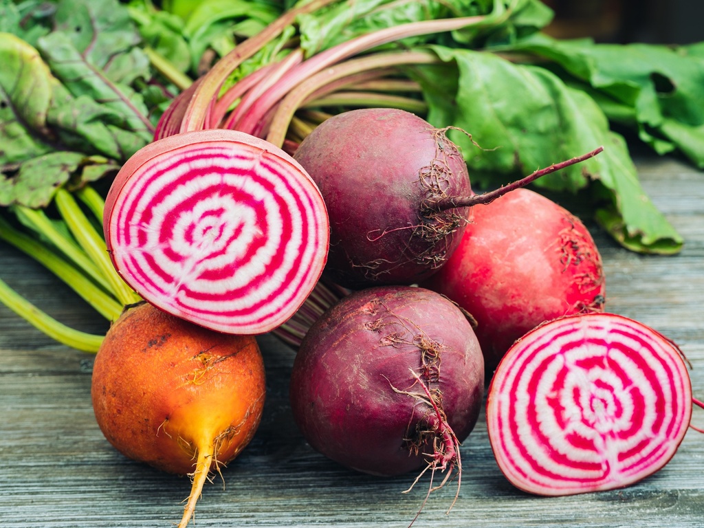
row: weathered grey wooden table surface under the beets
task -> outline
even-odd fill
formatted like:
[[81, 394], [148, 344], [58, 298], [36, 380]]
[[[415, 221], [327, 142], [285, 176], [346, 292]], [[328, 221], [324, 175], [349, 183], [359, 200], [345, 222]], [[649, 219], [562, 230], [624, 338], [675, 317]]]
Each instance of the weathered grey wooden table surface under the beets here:
[[[639, 256], [589, 225], [606, 268], [608, 310], [658, 329], [693, 365], [704, 399], [704, 173], [672, 158], [639, 158], [643, 185], [686, 239], [678, 256]], [[0, 277], [81, 329], [106, 323], [32, 260], [0, 245]], [[194, 527], [408, 526], [427, 481], [380, 479], [329, 462], [303, 441], [289, 413], [291, 349], [260, 343], [268, 365], [263, 424], [239, 458], [206, 484]], [[90, 403], [93, 356], [58, 345], [0, 306], [0, 525], [170, 527], [189, 479], [134, 463], [103, 438]], [[704, 427], [704, 410], [693, 422]], [[415, 527], [704, 527], [704, 434], [690, 429], [677, 455], [627, 489], [565, 498], [524, 494], [503, 478], [480, 419], [462, 447], [460, 497], [432, 495]]]

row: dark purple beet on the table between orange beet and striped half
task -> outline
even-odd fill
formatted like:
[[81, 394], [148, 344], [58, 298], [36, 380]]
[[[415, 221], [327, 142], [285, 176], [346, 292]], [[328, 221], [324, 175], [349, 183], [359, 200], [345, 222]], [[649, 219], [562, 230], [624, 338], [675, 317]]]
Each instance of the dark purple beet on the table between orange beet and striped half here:
[[459, 442], [483, 394], [482, 351], [464, 313], [406, 286], [357, 291], [327, 310], [291, 375], [294, 419], [310, 446], [379, 475], [460, 470]]

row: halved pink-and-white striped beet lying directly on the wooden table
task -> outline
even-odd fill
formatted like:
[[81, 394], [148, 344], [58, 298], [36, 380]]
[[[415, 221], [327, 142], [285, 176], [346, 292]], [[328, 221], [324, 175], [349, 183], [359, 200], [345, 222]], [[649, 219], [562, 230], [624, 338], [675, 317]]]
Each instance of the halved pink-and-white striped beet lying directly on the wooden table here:
[[679, 348], [611, 313], [528, 332], [501, 360], [486, 401], [501, 471], [546, 496], [621, 488], [655, 473], [677, 451], [691, 413]]

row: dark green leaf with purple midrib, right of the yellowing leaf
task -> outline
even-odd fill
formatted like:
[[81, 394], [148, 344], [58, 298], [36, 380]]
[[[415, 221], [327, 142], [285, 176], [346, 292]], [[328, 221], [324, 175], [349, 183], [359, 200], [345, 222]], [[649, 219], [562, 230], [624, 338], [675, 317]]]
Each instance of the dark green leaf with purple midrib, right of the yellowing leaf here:
[[[138, 42], [126, 8], [115, 0], [64, 0], [56, 13], [56, 30], [39, 39], [42, 56], [74, 97], [50, 114], [58, 115], [53, 122], [120, 160], [151, 141], [153, 134], [148, 108], [129, 85], [149, 76], [148, 59], [134, 47]], [[80, 115], [66, 118], [69, 107]], [[105, 120], [103, 133], [93, 141], [92, 132], [80, 129], [100, 129], [98, 119]]]

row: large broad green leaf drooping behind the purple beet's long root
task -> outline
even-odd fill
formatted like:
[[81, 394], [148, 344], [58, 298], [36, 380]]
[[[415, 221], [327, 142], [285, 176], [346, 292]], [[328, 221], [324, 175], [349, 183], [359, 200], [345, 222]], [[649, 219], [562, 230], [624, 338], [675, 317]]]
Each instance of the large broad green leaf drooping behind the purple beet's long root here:
[[[601, 108], [586, 93], [544, 68], [489, 53], [434, 49], [447, 65], [421, 69], [418, 75], [430, 106], [428, 119], [459, 127], [482, 146], [451, 131], [474, 184], [503, 184], [602, 145], [603, 153], [595, 158], [542, 177], [536, 185], [576, 192], [590, 184], [596, 189], [593, 182], [598, 182], [602, 190], [593, 193], [594, 206], [609, 212], [603, 225], [615, 239], [643, 253], [681, 249], [681, 237], [643, 192], [624, 140], [610, 131]], [[598, 220], [605, 218], [597, 214]]]

